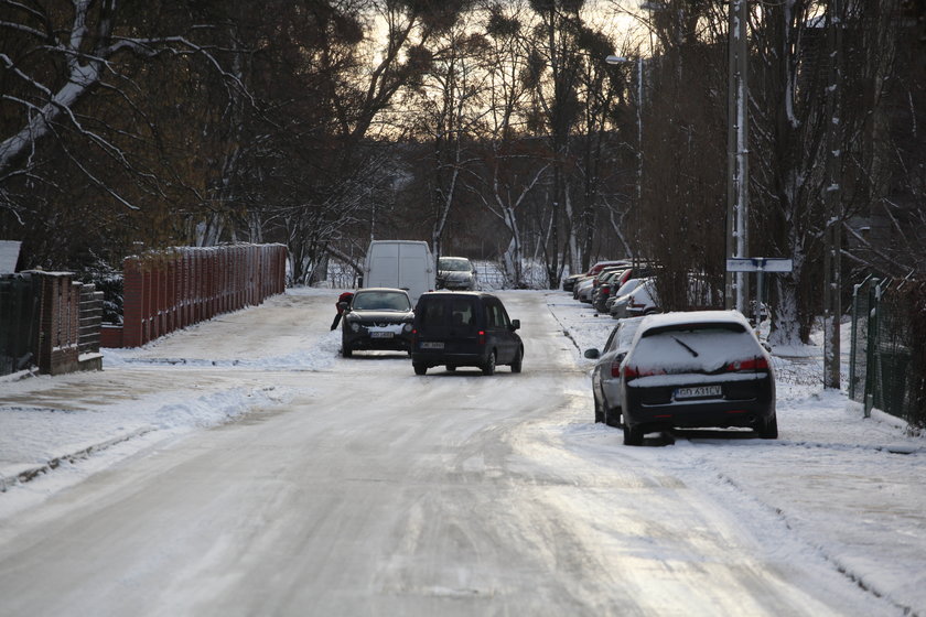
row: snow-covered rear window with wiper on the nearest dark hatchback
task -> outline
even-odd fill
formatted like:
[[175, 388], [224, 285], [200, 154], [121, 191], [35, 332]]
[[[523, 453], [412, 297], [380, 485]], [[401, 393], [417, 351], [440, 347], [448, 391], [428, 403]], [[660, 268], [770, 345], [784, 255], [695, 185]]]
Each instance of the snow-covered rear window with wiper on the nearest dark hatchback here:
[[713, 371], [736, 360], [761, 356], [752, 333], [736, 323], [655, 327], [642, 333], [633, 349], [637, 367]]

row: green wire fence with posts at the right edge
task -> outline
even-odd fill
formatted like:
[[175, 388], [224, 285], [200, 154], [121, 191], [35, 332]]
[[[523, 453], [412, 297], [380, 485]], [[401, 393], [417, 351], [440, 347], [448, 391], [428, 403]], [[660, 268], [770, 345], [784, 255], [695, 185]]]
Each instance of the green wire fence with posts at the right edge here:
[[849, 397], [926, 427], [926, 282], [870, 277], [855, 286]]

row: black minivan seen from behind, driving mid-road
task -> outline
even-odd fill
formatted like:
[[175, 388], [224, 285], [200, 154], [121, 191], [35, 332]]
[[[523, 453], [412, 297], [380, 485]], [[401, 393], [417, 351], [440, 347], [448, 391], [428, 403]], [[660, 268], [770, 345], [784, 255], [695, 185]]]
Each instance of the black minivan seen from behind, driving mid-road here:
[[472, 366], [483, 375], [497, 365], [520, 372], [524, 344], [498, 297], [483, 292], [430, 292], [414, 307], [411, 364], [416, 375], [443, 365], [448, 370]]

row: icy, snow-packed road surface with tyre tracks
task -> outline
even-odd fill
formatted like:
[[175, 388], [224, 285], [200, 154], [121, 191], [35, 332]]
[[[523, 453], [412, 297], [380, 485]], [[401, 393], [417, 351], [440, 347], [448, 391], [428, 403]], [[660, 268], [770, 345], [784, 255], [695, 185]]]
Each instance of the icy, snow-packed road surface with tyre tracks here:
[[[734, 479], [713, 481], [754, 448], [780, 488], [768, 452], [795, 464], [799, 450], [732, 440], [702, 461], [688, 442], [621, 446], [591, 423], [586, 371], [543, 295], [500, 295], [523, 324], [521, 375], [342, 359], [320, 332], [331, 294], [132, 354], [103, 374], [126, 398], [247, 387], [283, 402], [0, 521], [0, 615], [901, 613]], [[306, 346], [323, 353], [301, 364]]]

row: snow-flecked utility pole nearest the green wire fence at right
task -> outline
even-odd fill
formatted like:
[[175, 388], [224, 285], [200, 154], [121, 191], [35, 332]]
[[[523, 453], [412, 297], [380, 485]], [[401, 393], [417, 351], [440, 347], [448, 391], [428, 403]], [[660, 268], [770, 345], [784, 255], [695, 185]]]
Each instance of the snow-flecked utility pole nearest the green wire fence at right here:
[[842, 0], [827, 2], [827, 181], [823, 186], [823, 387], [840, 387], [839, 320], [842, 315]]

